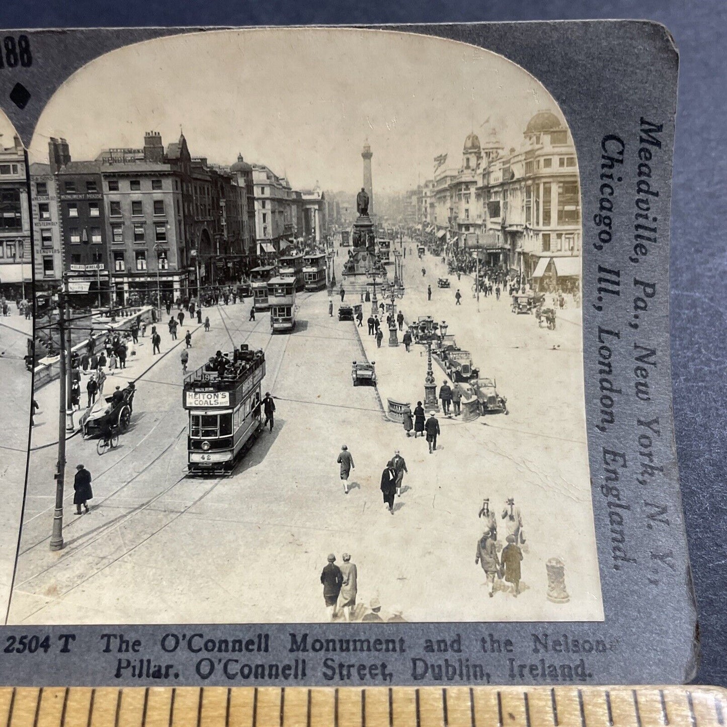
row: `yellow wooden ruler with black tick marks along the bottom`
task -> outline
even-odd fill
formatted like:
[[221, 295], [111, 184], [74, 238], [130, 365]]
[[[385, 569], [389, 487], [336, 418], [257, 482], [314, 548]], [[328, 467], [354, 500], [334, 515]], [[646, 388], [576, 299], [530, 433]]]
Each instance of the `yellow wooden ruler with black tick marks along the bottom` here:
[[3, 727], [717, 727], [713, 687], [0, 688]]

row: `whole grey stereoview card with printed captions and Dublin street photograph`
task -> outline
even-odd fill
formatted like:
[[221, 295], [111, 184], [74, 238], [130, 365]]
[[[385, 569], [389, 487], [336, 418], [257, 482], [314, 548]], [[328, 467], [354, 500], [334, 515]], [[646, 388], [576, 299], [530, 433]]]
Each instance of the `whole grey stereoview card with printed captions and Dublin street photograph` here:
[[[150, 688], [129, 696], [148, 715], [185, 687], [251, 688], [276, 723], [308, 694], [411, 716], [429, 688], [444, 723], [472, 688], [476, 720], [501, 689], [501, 727], [564, 688], [557, 727], [592, 719], [598, 685], [692, 678], [666, 28], [28, 30], [2, 48], [19, 226], [0, 292], [27, 330], [0, 358], [24, 417], [0, 685], [43, 687], [45, 708], [62, 675], [69, 710], [113, 685], [119, 714]], [[317, 279], [273, 335], [286, 259]], [[108, 284], [66, 285], [92, 265]], [[28, 274], [57, 306], [34, 329]], [[33, 336], [47, 356], [23, 365]], [[105, 447], [84, 422], [129, 380]]]

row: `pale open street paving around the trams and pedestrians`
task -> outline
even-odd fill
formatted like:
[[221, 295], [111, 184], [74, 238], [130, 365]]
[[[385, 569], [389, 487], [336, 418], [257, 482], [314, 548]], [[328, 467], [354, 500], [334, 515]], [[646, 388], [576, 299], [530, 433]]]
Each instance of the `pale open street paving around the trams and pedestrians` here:
[[[339, 281], [342, 256], [345, 249], [337, 258]], [[132, 427], [119, 448], [99, 457], [95, 441], [68, 440], [66, 545], [57, 553], [48, 547], [57, 455], [53, 446], [32, 451], [8, 622], [324, 621], [321, 569], [328, 553], [340, 563], [344, 552], [358, 566], [358, 603], [378, 597], [385, 613], [401, 610], [408, 621], [601, 619], [580, 310], [559, 310], [556, 330], [547, 331], [534, 316], [511, 313], [507, 295], [482, 298], [478, 313], [471, 278], [458, 284], [449, 276], [451, 289], [439, 290], [438, 276], [446, 276], [439, 260], [427, 255], [419, 262], [408, 250], [406, 294], [398, 305], [407, 320], [445, 319], [481, 375], [497, 379], [509, 416], [464, 423], [440, 415], [441, 446], [429, 454], [425, 441], [406, 438], [401, 425], [385, 419], [377, 390], [352, 386], [351, 362], [364, 350], [371, 360], [373, 342], [365, 340], [365, 327], [337, 321], [338, 297], [331, 318], [325, 291], [299, 294], [290, 335], [271, 336], [267, 313], [248, 321], [249, 302], [206, 308], [210, 332], [189, 326], [189, 369], [233, 343], [264, 348], [262, 390], [276, 399], [276, 424], [232, 476], [188, 478], [184, 342], [181, 335], [169, 341], [161, 324], [163, 356], [148, 356], [146, 337], [138, 360], [121, 372], [140, 378]], [[455, 307], [458, 285], [463, 299]], [[395, 390], [415, 404], [424, 398], [425, 349], [415, 345], [406, 354], [386, 342], [374, 359], [381, 398], [385, 403], [385, 393]], [[435, 377], [439, 387], [436, 366]], [[121, 379], [110, 377], [106, 392], [123, 386]], [[336, 463], [344, 443], [356, 467], [348, 495]], [[409, 473], [390, 515], [379, 480], [395, 449]], [[91, 512], [76, 516], [72, 483], [79, 463], [92, 473], [95, 497]], [[487, 598], [475, 565], [484, 497], [498, 520], [508, 497], [521, 507], [527, 542], [518, 598], [505, 582]], [[545, 561], [554, 556], [566, 564], [567, 606], [546, 599]]]

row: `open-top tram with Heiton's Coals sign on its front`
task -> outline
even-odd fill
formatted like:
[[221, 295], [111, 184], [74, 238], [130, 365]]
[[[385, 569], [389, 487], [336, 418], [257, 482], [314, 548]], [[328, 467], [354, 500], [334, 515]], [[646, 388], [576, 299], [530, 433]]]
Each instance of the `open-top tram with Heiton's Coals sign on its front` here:
[[182, 404], [189, 411], [190, 473], [233, 470], [261, 428], [263, 378], [265, 353], [246, 344], [211, 358], [185, 377]]

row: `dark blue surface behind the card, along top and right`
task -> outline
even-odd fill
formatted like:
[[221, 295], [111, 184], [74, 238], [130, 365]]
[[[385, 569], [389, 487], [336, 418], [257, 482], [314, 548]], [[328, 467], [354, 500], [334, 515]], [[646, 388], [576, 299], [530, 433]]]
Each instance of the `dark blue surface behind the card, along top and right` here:
[[[443, 23], [648, 18], [680, 51], [671, 248], [672, 376], [681, 486], [702, 664], [697, 681], [727, 686], [727, 2], [724, 0], [414, 0], [7, 2], [3, 28], [132, 25]], [[658, 71], [655, 71], [658, 72]]]

